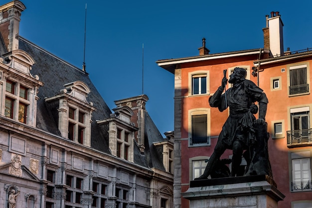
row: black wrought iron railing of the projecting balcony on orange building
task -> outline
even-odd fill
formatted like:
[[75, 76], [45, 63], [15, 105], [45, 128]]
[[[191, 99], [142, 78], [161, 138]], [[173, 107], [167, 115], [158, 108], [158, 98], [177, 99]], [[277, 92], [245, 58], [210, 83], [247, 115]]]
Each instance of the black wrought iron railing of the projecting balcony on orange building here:
[[287, 131], [287, 144], [312, 142], [312, 128]]

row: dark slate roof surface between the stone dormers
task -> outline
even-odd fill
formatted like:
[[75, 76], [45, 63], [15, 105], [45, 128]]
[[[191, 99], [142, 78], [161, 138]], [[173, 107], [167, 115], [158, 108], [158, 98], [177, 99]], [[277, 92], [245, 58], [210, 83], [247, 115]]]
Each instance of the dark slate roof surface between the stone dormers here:
[[[92, 102], [93, 107], [96, 108], [92, 112], [91, 148], [111, 154], [107, 135], [108, 129], [99, 126], [96, 120], [109, 118], [112, 111], [91, 82], [88, 74], [22, 37], [19, 37], [19, 49], [27, 52], [35, 60], [36, 64], [32, 66], [30, 73], [32, 75], [38, 75], [39, 80], [44, 84], [43, 87], [39, 88], [37, 95], [39, 100], [37, 101], [36, 127], [56, 136], [61, 136], [57, 126], [57, 120], [51, 113], [51, 110], [49, 110], [49, 105], [45, 102], [45, 98], [58, 95], [60, 90], [64, 89], [65, 84], [82, 81], [91, 90], [88, 94], [87, 101]], [[0, 52], [1, 54], [6, 52], [3, 40], [0, 40]], [[164, 171], [162, 161], [160, 161], [160, 155], [157, 154], [153, 145], [154, 142], [163, 141], [164, 138], [161, 136], [148, 112], [146, 112], [145, 116], [145, 129], [145, 155], [141, 154], [140, 149], [135, 144], [134, 162], [144, 167], [155, 167]]]

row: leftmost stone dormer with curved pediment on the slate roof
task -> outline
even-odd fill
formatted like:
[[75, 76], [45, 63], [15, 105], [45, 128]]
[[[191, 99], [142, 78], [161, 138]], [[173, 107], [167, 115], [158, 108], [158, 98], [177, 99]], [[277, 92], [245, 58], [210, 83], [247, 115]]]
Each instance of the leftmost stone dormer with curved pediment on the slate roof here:
[[30, 74], [35, 62], [22, 50], [12, 50], [2, 55], [8, 62], [0, 61], [6, 65], [0, 71], [0, 81], [4, 88], [0, 92], [0, 115], [35, 127], [37, 93], [38, 88], [43, 86], [38, 76]]

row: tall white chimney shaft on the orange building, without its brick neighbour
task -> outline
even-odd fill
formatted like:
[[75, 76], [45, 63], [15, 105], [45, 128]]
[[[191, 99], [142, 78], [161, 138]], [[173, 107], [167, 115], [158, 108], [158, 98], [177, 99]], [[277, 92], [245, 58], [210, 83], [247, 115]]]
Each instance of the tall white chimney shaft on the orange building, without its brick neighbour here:
[[273, 57], [284, 55], [283, 40], [283, 22], [278, 11], [271, 12], [271, 18], [268, 18], [270, 34], [270, 50]]

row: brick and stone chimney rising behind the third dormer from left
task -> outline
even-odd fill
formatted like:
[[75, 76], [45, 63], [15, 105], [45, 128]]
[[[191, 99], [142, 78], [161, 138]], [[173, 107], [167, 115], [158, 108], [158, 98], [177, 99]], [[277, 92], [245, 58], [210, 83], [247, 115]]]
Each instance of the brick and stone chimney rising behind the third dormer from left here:
[[146, 95], [141, 95], [137, 97], [115, 101], [117, 107], [128, 106], [134, 112], [134, 115], [131, 116], [131, 122], [134, 123], [134, 125], [139, 128], [138, 132], [135, 132], [135, 138], [141, 150], [141, 154], [144, 154], [145, 151], [145, 143], [144, 143], [145, 112], [146, 112], [145, 104], [148, 100], [149, 98]]

